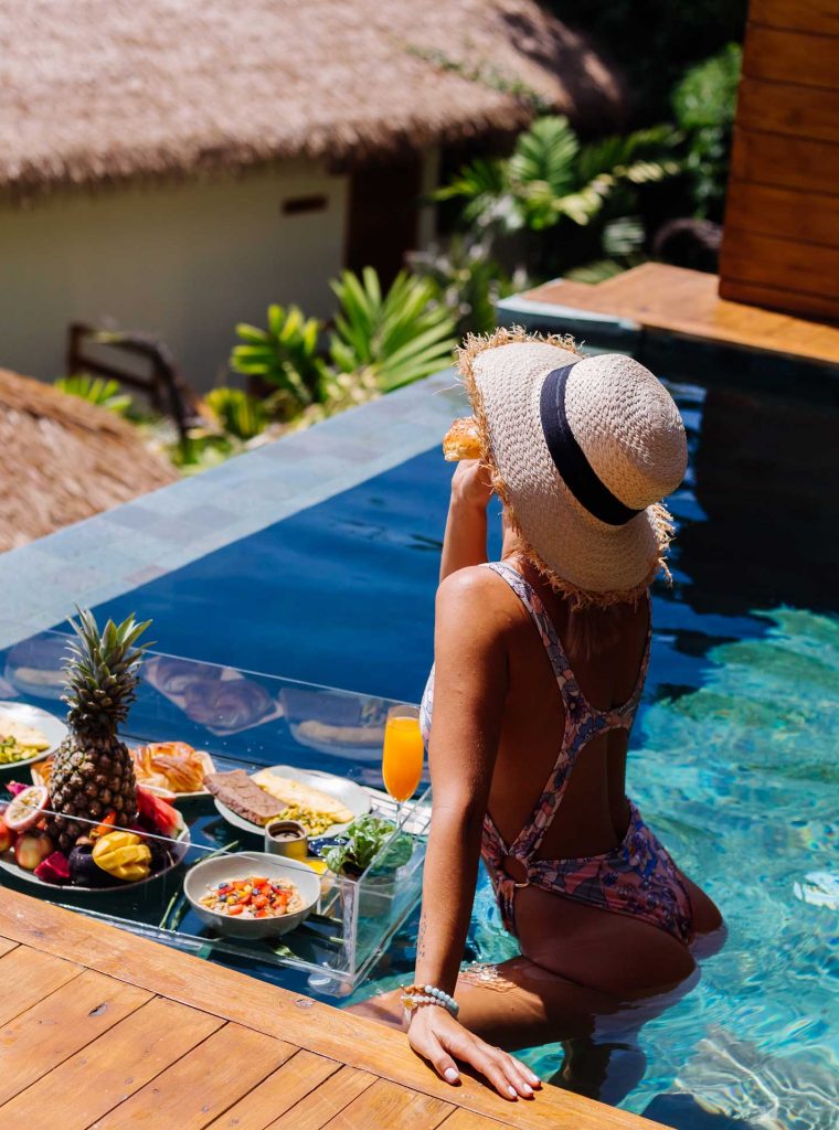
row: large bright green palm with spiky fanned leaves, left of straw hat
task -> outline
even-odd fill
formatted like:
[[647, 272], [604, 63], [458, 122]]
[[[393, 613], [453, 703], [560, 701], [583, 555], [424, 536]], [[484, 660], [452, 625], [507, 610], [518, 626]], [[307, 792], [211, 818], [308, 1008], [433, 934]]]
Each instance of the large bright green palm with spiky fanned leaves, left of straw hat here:
[[344, 271], [330, 284], [340, 310], [329, 353], [341, 373], [369, 370], [382, 392], [410, 384], [449, 364], [455, 320], [429, 279], [400, 271], [382, 294], [379, 276]]

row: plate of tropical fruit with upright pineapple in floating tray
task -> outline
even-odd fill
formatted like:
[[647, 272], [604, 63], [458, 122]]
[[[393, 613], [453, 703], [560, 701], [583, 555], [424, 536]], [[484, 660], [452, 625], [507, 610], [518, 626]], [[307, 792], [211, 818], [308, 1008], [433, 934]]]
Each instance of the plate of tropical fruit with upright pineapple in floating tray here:
[[86, 893], [137, 886], [180, 863], [189, 846], [183, 817], [138, 784], [118, 733], [135, 698], [145, 650], [137, 641], [148, 625], [129, 617], [119, 626], [109, 620], [100, 632], [89, 611], [71, 625], [67, 736], [45, 783], [7, 785], [0, 868], [26, 881]]

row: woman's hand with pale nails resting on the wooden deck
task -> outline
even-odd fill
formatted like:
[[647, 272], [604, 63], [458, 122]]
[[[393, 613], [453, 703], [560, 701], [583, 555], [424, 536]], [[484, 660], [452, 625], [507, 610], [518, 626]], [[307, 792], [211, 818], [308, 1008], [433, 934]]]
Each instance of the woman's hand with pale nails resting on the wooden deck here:
[[452, 1085], [460, 1081], [455, 1060], [468, 1063], [485, 1076], [502, 1098], [533, 1098], [538, 1078], [512, 1055], [493, 1048], [455, 1019], [444, 1008], [426, 1005], [414, 1014], [408, 1043]]

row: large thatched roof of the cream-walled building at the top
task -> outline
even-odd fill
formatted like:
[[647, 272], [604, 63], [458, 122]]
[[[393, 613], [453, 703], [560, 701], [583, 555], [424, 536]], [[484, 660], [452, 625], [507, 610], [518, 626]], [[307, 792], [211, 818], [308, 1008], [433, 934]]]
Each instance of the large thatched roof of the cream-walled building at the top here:
[[0, 43], [18, 195], [507, 131], [522, 86], [583, 127], [621, 103], [535, 0], [0, 0]]

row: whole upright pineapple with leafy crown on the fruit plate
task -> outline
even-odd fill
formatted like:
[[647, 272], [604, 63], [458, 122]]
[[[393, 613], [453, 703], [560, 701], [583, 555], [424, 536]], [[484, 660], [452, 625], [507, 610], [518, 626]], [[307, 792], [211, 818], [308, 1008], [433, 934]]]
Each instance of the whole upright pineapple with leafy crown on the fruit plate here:
[[149, 623], [129, 616], [119, 626], [109, 620], [100, 632], [93, 614], [83, 610], [78, 624], [70, 620], [77, 638], [68, 644], [62, 695], [70, 733], [50, 774], [53, 815], [47, 826], [64, 853], [90, 832], [85, 820], [98, 820], [112, 809], [121, 825], [137, 816], [133, 763], [116, 729], [136, 696], [137, 669], [148, 645], [135, 644]]

